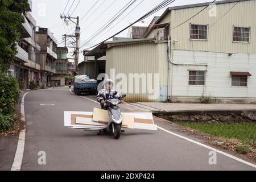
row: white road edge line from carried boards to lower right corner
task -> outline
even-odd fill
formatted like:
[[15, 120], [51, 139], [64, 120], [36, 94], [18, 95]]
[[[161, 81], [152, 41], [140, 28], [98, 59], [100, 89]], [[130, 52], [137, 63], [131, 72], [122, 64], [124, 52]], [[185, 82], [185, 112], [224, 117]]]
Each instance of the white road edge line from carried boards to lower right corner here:
[[255, 164], [252, 164], [252, 163], [249, 163], [249, 162], [247, 162], [247, 161], [245, 161], [245, 160], [239, 159], [239, 158], [237, 158], [236, 156], [233, 156], [233, 155], [227, 154], [226, 152], [222, 152], [222, 151], [217, 150], [217, 149], [215, 149], [215, 148], [213, 148], [213, 147], [209, 147], [209, 146], [207, 146], [207, 145], [205, 145], [205, 144], [203, 144], [203, 143], [196, 142], [195, 140], [189, 139], [189, 138], [187, 138], [187, 137], [183, 137], [183, 136], [178, 135], [178, 134], [176, 134], [176, 133], [172, 133], [171, 131], [168, 131], [168, 130], [166, 130], [166, 129], [163, 129], [162, 127], [159, 127], [159, 126], [158, 126], [158, 128], [159, 128], [160, 130], [166, 131], [166, 132], [167, 132], [167, 133], [169, 133], [169, 134], [175, 135], [176, 137], [179, 137], [179, 138], [182, 138], [182, 139], [188, 140], [189, 142], [192, 142], [192, 143], [198, 144], [199, 146], [202, 146], [202, 147], [208, 148], [209, 150], [212, 150], [212, 151], [218, 152], [219, 154], [222, 154], [222, 155], [228, 156], [228, 157], [229, 157], [229, 158], [231, 158], [231, 159], [237, 160], [238, 162], [241, 162], [241, 163], [247, 164], [248, 166], [251, 166], [251, 167], [256, 168], [256, 165], [255, 165]]

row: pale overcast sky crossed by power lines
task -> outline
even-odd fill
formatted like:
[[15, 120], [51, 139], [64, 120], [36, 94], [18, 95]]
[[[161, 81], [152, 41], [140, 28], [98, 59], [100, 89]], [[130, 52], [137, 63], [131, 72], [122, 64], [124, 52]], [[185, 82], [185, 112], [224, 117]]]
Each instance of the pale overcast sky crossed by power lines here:
[[[69, 3], [68, 3], [69, 1]], [[49, 30], [54, 33], [55, 38], [58, 40], [58, 46], [64, 46], [61, 40], [61, 36], [63, 34], [71, 34], [75, 31], [74, 23], [70, 22], [67, 26], [64, 24], [60, 18], [60, 14], [69, 14], [74, 13], [72, 16], [80, 16], [80, 19], [86, 14], [89, 13], [81, 19], [80, 27], [81, 27], [81, 42], [84, 43], [88, 38], [92, 37], [92, 35], [98, 31], [105, 23], [107, 23], [115, 14], [118, 13], [128, 2], [131, 0], [98, 0], [98, 3], [93, 7], [92, 10], [89, 9], [96, 3], [96, 0], [32, 0], [32, 16], [36, 20], [37, 26], [49, 28]], [[74, 3], [73, 3], [74, 2]], [[133, 6], [131, 6], [119, 19], [117, 19], [112, 26], [110, 26], [106, 31], [102, 32], [102, 34], [98, 35], [94, 38], [88, 45], [82, 47], [82, 49], [94, 46], [95, 44], [109, 38], [116, 32], [122, 30], [124, 27], [128, 26], [130, 23], [134, 22], [152, 8], [157, 6], [160, 0], [137, 0]], [[180, 5], [188, 5], [193, 3], [201, 3], [201, 2], [209, 2], [207, 0], [176, 0], [170, 6], [180, 6]], [[68, 5], [67, 5], [68, 3]], [[72, 6], [73, 3], [73, 6]], [[77, 3], [79, 5], [77, 6]], [[141, 3], [141, 4], [139, 4]], [[65, 6], [67, 5], [66, 10]], [[75, 9], [75, 7], [77, 8]], [[135, 9], [134, 9], [135, 8]], [[69, 10], [70, 9], [70, 10]], [[107, 9], [107, 10], [106, 10]], [[133, 10], [134, 9], [134, 10]], [[166, 10], [167, 7], [164, 7], [162, 10], [158, 11], [154, 15], [151, 15], [144, 21], [146, 23], [150, 23], [154, 16], [160, 16]], [[105, 11], [106, 10], [106, 11]], [[133, 10], [130, 14], [128, 14], [131, 10]], [[105, 11], [105, 12], [104, 12]], [[104, 12], [104, 13], [103, 13]], [[128, 14], [128, 15], [127, 15]], [[127, 16], [126, 16], [127, 15]], [[121, 20], [124, 16], [123, 20]], [[121, 22], [119, 22], [121, 20]], [[118, 23], [119, 22], [119, 23]], [[118, 23], [118, 24], [117, 24]], [[116, 26], [114, 26], [117, 24]], [[114, 26], [114, 27], [113, 27]], [[64, 28], [65, 27], [65, 28]], [[113, 27], [113, 28], [112, 28]], [[127, 37], [127, 30], [123, 31], [118, 36]], [[72, 51], [72, 49], [69, 49]], [[83, 60], [83, 57], [80, 56], [80, 61]]]

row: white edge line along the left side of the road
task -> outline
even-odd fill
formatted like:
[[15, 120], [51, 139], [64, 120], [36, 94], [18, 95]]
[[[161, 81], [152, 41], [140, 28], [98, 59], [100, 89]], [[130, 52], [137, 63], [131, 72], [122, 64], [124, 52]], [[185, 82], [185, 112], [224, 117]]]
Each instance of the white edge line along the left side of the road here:
[[[24, 96], [22, 97], [22, 103], [20, 106], [20, 113], [21, 113], [21, 120], [25, 120], [25, 111], [24, 111], [24, 98], [28, 94], [25, 93]], [[26, 125], [24, 125], [24, 130], [20, 131], [19, 133], [19, 140], [18, 140], [18, 146], [16, 149], [16, 154], [14, 157], [14, 162], [13, 166], [11, 167], [11, 171], [20, 171], [21, 166], [22, 166], [22, 159], [23, 159], [23, 153], [24, 153], [24, 146], [25, 146], [25, 138], [26, 138]]]

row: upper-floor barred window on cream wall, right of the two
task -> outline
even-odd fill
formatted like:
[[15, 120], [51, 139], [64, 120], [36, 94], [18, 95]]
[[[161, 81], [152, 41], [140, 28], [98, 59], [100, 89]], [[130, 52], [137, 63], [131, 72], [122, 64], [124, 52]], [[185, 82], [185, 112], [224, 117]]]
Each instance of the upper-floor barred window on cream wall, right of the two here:
[[248, 42], [250, 41], [250, 28], [234, 27], [233, 33], [234, 42]]

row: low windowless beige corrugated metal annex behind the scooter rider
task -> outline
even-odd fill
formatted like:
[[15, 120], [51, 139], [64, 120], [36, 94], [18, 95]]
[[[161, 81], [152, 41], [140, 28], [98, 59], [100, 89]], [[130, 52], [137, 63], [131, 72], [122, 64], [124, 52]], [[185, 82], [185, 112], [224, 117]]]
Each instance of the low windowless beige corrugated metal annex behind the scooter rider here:
[[[127, 94], [127, 101], [158, 102], [167, 100], [168, 62], [166, 41], [156, 42], [154, 39], [140, 39], [138, 41], [106, 42], [106, 44], [108, 44], [106, 74], [116, 84], [120, 78], [126, 79], [122, 80], [125, 89], [116, 89]], [[111, 72], [113, 70], [114, 78]], [[123, 75], [120, 75], [120, 73]], [[159, 77], [156, 88], [155, 76]], [[131, 83], [131, 80], [134, 80], [134, 82]], [[152, 86], [149, 86], [150, 83]]]

